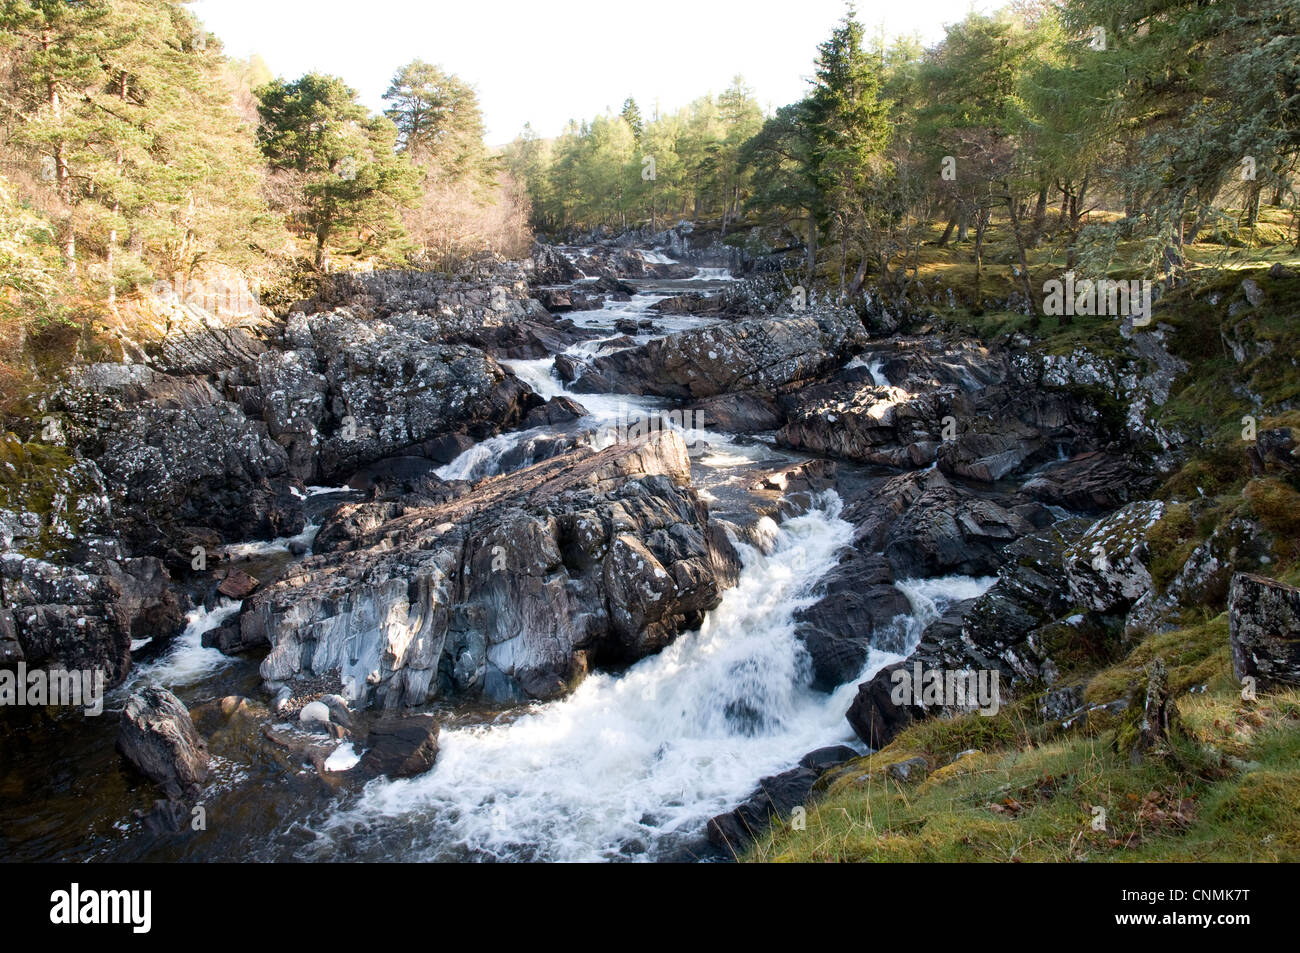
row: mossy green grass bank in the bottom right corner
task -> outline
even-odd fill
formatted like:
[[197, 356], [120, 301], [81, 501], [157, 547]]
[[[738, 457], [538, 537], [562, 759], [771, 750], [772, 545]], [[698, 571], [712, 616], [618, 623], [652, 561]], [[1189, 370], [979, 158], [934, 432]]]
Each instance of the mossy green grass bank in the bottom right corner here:
[[[1300, 696], [1254, 705], [1223, 689], [1183, 696], [1178, 709], [1186, 737], [1176, 758], [1131, 764], [1105, 741], [1072, 733], [1020, 738], [898, 784], [889, 763], [932, 758], [914, 725], [846, 766], [809, 806], [803, 829], [775, 826], [746, 859], [1300, 859]], [[1234, 745], [1249, 770], [1223, 763]], [[1098, 807], [1104, 829], [1093, 829]]]

